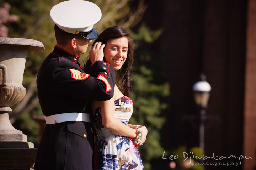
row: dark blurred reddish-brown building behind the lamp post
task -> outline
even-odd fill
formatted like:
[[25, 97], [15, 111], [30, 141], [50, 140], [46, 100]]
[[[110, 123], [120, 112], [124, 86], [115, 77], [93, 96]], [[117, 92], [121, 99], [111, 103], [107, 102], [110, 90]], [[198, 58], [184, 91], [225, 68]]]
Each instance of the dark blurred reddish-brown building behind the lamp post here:
[[[197, 114], [193, 84], [201, 71], [212, 86], [206, 114], [205, 155], [250, 156], [209, 162], [236, 165], [206, 166], [207, 170], [253, 170], [256, 167], [256, 1], [147, 0], [142, 22], [163, 29], [150, 46], [162, 63], [171, 95], [163, 101], [168, 123], [162, 132], [166, 150], [198, 146], [198, 129], [186, 115]], [[194, 122], [196, 125], [197, 122]], [[169, 162], [160, 160], [166, 166]], [[159, 164], [159, 162], [158, 162]]]

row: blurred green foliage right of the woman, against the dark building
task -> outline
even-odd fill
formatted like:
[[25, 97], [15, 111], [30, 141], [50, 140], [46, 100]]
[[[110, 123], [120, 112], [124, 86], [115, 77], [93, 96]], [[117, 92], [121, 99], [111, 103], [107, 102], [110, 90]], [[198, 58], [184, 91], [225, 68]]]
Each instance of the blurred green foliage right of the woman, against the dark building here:
[[153, 69], [156, 60], [153, 53], [145, 50], [145, 45], [153, 43], [160, 35], [161, 30], [152, 31], [142, 24], [136, 33], [132, 33], [134, 39], [136, 59], [133, 67], [133, 106], [134, 112], [130, 119], [131, 124], [145, 125], [148, 128], [147, 140], [143, 147], [139, 147], [145, 169], [151, 169], [150, 160], [162, 156], [164, 149], [161, 146], [161, 134], [165, 118], [161, 111], [167, 106], [161, 103], [159, 97], [169, 94], [169, 84], [156, 84], [158, 69]]

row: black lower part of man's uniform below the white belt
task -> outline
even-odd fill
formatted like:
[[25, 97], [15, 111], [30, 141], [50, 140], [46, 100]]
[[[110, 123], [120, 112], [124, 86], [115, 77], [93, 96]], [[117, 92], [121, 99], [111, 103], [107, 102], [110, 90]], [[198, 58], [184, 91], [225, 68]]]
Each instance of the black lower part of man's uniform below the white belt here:
[[36, 169], [92, 170], [94, 137], [90, 123], [70, 121], [47, 124], [41, 143]]

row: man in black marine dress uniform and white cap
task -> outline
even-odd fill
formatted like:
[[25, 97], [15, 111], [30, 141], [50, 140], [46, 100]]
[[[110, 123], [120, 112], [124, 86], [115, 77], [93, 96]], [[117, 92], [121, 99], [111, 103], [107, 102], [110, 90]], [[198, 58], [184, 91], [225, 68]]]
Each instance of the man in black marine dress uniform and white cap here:
[[92, 100], [113, 97], [115, 72], [103, 62], [103, 47], [90, 51], [94, 76], [79, 63], [88, 43], [98, 36], [93, 24], [100, 8], [87, 1], [64, 1], [50, 11], [57, 44], [37, 76], [38, 97], [46, 127], [38, 148], [35, 170], [92, 170], [94, 138], [90, 116]]

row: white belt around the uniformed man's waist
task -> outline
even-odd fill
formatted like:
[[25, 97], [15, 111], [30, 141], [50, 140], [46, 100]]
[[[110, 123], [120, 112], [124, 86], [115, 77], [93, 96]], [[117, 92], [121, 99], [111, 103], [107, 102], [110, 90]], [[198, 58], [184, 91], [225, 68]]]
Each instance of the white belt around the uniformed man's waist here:
[[90, 114], [88, 113], [60, 113], [60, 114], [54, 114], [51, 116], [44, 116], [44, 119], [46, 120], [46, 124], [55, 124], [55, 123], [61, 123], [65, 121], [84, 121], [90, 123]]

